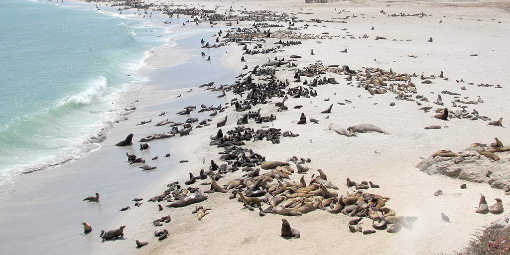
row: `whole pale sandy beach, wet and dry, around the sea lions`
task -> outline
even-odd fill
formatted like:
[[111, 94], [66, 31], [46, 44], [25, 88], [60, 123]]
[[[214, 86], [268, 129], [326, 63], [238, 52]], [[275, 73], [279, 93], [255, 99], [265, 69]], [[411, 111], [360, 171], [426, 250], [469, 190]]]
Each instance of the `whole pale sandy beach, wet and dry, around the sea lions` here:
[[[108, 3], [111, 5], [114, 2]], [[62, 252], [78, 243], [85, 248], [77, 252], [87, 254], [238, 254], [246, 251], [273, 254], [287, 253], [289, 250], [297, 254], [319, 254], [332, 251], [351, 253], [354, 247], [365, 247], [370, 254], [449, 254], [454, 250], [457, 251], [455, 253], [460, 252], [469, 244], [474, 233], [507, 215], [507, 211], [499, 215], [475, 213], [480, 193], [487, 197], [489, 207], [495, 203], [494, 198], [501, 198], [504, 208], [510, 206], [505, 190], [491, 188], [489, 177], [476, 179], [482, 180], [476, 183], [442, 174], [429, 175], [416, 168], [417, 164], [429, 159], [440, 149], [460, 152], [473, 143], [493, 143], [495, 137], [502, 141], [503, 146], [510, 141], [505, 124], [510, 119], [506, 101], [506, 95], [510, 93], [506, 78], [510, 70], [507, 61], [510, 58], [507, 48], [510, 15], [505, 2], [340, 1], [305, 4], [304, 1], [291, 0], [145, 1], [145, 4], [150, 3], [155, 6], [148, 10], [157, 10], [158, 6], [167, 4], [169, 9], [215, 10], [216, 13], [228, 13], [244, 17], [245, 20], [240, 19], [239, 24], [230, 20], [215, 21], [216, 24], [209, 28], [209, 21], [202, 20], [200, 16], [180, 15], [179, 24], [189, 20], [183, 23], [183, 27], [195, 25], [193, 19], [198, 18], [202, 31], [183, 32], [182, 37], [175, 38], [182, 47], [151, 52], [140, 73], [152, 81], [119, 99], [118, 104], [135, 106], [136, 110], [126, 114], [126, 120], [115, 124], [99, 150], [55, 168], [58, 171], [53, 174], [34, 172], [30, 176], [21, 176], [16, 190], [6, 191], [9, 196], [3, 199], [6, 207], [3, 209], [2, 223], [6, 226], [15, 228], [20, 224], [34, 224], [38, 228], [34, 232], [42, 233], [44, 225], [38, 223], [41, 220], [52, 218], [52, 224], [58, 224], [60, 217], [65, 218], [65, 222], [74, 221], [73, 225], [60, 226], [67, 235], [72, 236], [68, 238], [68, 243], [51, 240], [52, 235], [45, 237], [45, 240], [48, 247], [63, 245]], [[136, 9], [132, 11], [139, 12]], [[250, 16], [255, 14], [259, 17]], [[173, 20], [175, 18], [174, 15]], [[277, 19], [280, 19], [279, 22]], [[175, 20], [173, 25], [176, 23]], [[253, 28], [254, 23], [261, 23], [258, 28], [260, 33], [255, 33], [257, 28]], [[264, 27], [262, 23], [280, 27]], [[238, 28], [245, 30], [237, 32]], [[220, 29], [223, 33], [218, 36]], [[267, 30], [270, 30], [269, 37], [265, 32]], [[246, 44], [238, 44], [233, 39], [226, 42], [230, 40], [225, 36], [227, 32], [231, 33], [230, 38], [237, 35], [240, 38], [249, 33], [258, 36]], [[205, 35], [209, 37], [203, 37]], [[202, 48], [200, 39], [212, 45], [216, 38], [219, 38], [219, 42], [225, 41], [225, 45]], [[284, 46], [279, 41], [299, 43]], [[269, 53], [245, 54], [245, 45], [247, 50], [269, 50]], [[201, 52], [205, 56], [201, 56]], [[291, 58], [292, 55], [301, 58]], [[209, 56], [211, 61], [206, 61]], [[245, 62], [241, 61], [242, 57]], [[281, 66], [262, 66], [275, 58], [280, 60]], [[243, 69], [245, 65], [247, 68]], [[259, 70], [274, 70], [274, 73], [251, 73], [257, 65], [260, 66], [257, 68]], [[352, 70], [351, 73], [345, 65]], [[180, 75], [190, 69], [194, 75]], [[303, 74], [311, 69], [314, 73], [310, 76]], [[296, 82], [296, 72], [301, 73], [300, 82]], [[372, 79], [367, 78], [367, 73]], [[377, 76], [383, 73], [386, 77], [394, 74], [403, 80], [385, 80]], [[288, 99], [284, 100], [283, 96], [268, 97], [265, 104], [236, 111], [235, 101], [243, 104], [250, 93], [257, 91], [249, 89], [236, 93], [234, 89], [239, 88], [234, 86], [236, 82], [246, 82], [250, 74], [252, 82], [257, 84], [276, 81], [285, 85], [288, 82], [281, 89]], [[308, 86], [315, 79], [334, 79], [337, 83]], [[366, 85], [370, 80], [372, 85]], [[305, 81], [307, 84], [303, 84]], [[212, 87], [198, 87], [209, 82], [214, 82], [213, 87], [216, 88], [223, 85], [227, 90], [226, 96], [217, 98], [221, 91], [207, 89]], [[313, 90], [316, 95], [291, 95], [289, 88], [297, 90], [299, 87]], [[433, 103], [438, 101], [438, 95], [443, 106]], [[277, 111], [279, 107], [275, 104], [283, 100], [288, 109]], [[470, 100], [473, 103], [467, 103]], [[222, 110], [218, 110], [216, 116], [210, 116], [212, 111], [198, 112], [202, 104]], [[331, 105], [330, 113], [321, 113]], [[187, 115], [176, 115], [187, 106], [195, 106], [196, 109]], [[430, 111], [419, 110], [426, 106], [431, 107]], [[445, 107], [450, 111], [448, 120], [433, 117], [438, 114], [436, 109]], [[243, 115], [259, 109], [260, 116], [273, 115], [275, 119], [262, 123], [248, 119], [248, 123], [237, 124]], [[478, 117], [456, 118], [455, 112], [462, 112], [463, 109], [467, 113], [477, 112]], [[161, 116], [161, 112], [165, 112], [165, 115]], [[298, 124], [302, 113], [307, 121]], [[225, 116], [226, 124], [217, 127]], [[141, 138], [171, 131], [170, 126], [155, 126], [156, 123], [166, 119], [185, 122], [189, 118], [197, 118], [198, 121], [209, 118], [211, 121], [207, 122], [209, 125], [201, 124], [201, 127], [197, 127], [198, 122], [193, 122], [189, 135], [180, 137], [177, 134], [169, 139], [149, 141], [149, 149], [139, 150], [141, 142], [138, 141]], [[502, 126], [489, 125], [490, 121], [499, 118], [503, 118]], [[137, 125], [149, 119], [150, 123]], [[317, 123], [311, 119], [317, 120]], [[347, 137], [329, 130], [331, 123], [343, 129], [369, 123], [387, 134], [368, 132]], [[424, 128], [431, 125], [441, 128]], [[317, 169], [322, 169], [327, 181], [338, 186], [335, 191], [344, 198], [349, 189], [354, 191], [354, 187], [346, 186], [346, 178], [358, 184], [371, 181], [380, 188], [362, 189], [363, 192], [388, 198], [386, 206], [395, 210], [396, 216], [417, 217], [412, 229], [402, 227], [395, 234], [386, 231], [376, 231], [371, 235], [350, 233], [349, 221], [357, 217], [329, 213], [329, 207], [301, 216], [266, 212], [261, 217], [258, 208], [250, 211], [237, 197], [229, 199], [232, 190], [206, 194], [210, 185], [201, 183], [211, 182], [210, 179], [185, 185], [190, 179], [190, 172], [199, 176], [201, 169], [210, 169], [211, 160], [218, 165], [227, 164], [229, 169], [235, 164], [235, 160], [227, 162], [220, 159], [225, 149], [228, 151], [228, 146], [218, 147], [210, 145], [210, 142], [218, 129], [221, 128], [223, 134], [229, 136], [232, 133], [227, 134], [227, 131], [235, 130], [238, 126], [253, 129], [254, 132], [274, 128], [280, 129], [282, 134], [290, 131], [299, 135], [278, 136], [278, 143], [264, 138], [246, 140], [244, 145], [239, 145], [265, 157], [266, 161], [288, 162], [296, 170], [288, 179], [281, 175], [274, 177], [268, 182], [268, 189], [278, 187], [276, 179], [283, 183], [299, 183], [303, 177], [308, 185], [313, 177], [319, 175]], [[182, 126], [179, 130], [183, 130]], [[135, 134], [133, 145], [114, 146], [130, 133]], [[143, 164], [130, 165], [126, 162], [126, 152], [144, 158], [146, 164], [157, 166], [157, 169], [141, 171], [139, 167]], [[170, 157], [165, 157], [168, 153]], [[509, 164], [510, 152], [498, 152], [497, 155], [500, 158], [498, 161], [493, 162], [481, 156], [474, 162], [482, 165], [483, 173], [495, 165], [504, 167]], [[157, 160], [150, 160], [156, 156]], [[296, 163], [291, 161], [293, 157], [298, 160], [310, 159], [310, 162], [302, 165], [311, 170], [298, 173]], [[261, 167], [260, 162], [257, 164], [254, 169]], [[469, 163], [457, 165], [462, 167], [462, 164]], [[222, 173], [217, 183], [222, 186], [235, 179], [246, 179], [243, 175], [247, 172], [242, 168]], [[270, 171], [261, 169], [260, 174]], [[68, 182], [66, 178], [82, 181], [68, 187], [63, 185]], [[165, 207], [173, 202], [166, 199], [148, 201], [162, 194], [172, 182], [179, 182], [183, 189], [199, 188], [208, 198], [182, 208]], [[57, 185], [55, 189], [41, 188], [48, 183]], [[461, 189], [462, 184], [466, 184], [467, 188]], [[442, 190], [442, 195], [435, 196], [437, 190]], [[95, 192], [101, 194], [100, 202], [81, 201]], [[27, 198], [42, 193], [47, 195], [38, 199]], [[189, 195], [186, 192], [183, 194]], [[56, 197], [66, 203], [56, 203]], [[135, 197], [143, 198], [140, 207], [135, 207], [135, 202], [131, 201]], [[314, 197], [309, 198], [310, 201]], [[44, 211], [38, 214], [16, 212], [16, 208], [29, 203], [37, 203]], [[61, 208], [53, 207], [55, 204]], [[158, 204], [162, 205], [163, 210], [158, 209]], [[212, 210], [197, 220], [196, 214], [192, 214], [195, 205]], [[125, 206], [131, 209], [118, 212]], [[73, 210], [69, 211], [67, 207]], [[269, 201], [262, 204], [262, 209], [269, 207]], [[56, 213], [56, 210], [61, 213]], [[447, 215], [450, 222], [443, 221], [441, 213]], [[77, 214], [79, 217], [75, 217]], [[171, 217], [170, 222], [154, 226], [154, 220], [167, 215]], [[284, 218], [299, 230], [300, 238], [280, 237]], [[83, 228], [80, 223], [83, 221], [89, 222], [93, 228], [85, 236], [81, 236]], [[114, 230], [122, 225], [126, 226], [123, 237], [101, 242], [101, 230]], [[368, 217], [361, 220], [360, 226], [363, 231], [374, 229], [372, 219]], [[155, 231], [164, 229], [168, 230], [167, 238], [158, 241]], [[22, 237], [22, 233], [15, 235]], [[147, 241], [148, 244], [137, 249], [135, 240]], [[354, 249], [358, 251], [360, 248]], [[19, 250], [16, 252], [14, 248], [10, 251], [23, 253]]]

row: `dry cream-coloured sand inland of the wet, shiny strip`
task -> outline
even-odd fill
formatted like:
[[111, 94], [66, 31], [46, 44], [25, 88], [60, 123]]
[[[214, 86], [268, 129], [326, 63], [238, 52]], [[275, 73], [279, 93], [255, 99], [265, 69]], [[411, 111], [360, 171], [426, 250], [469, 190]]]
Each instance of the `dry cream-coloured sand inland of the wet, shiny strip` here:
[[[248, 65], [250, 70], [254, 65], [264, 63], [267, 58], [278, 57], [287, 60], [293, 54], [303, 57], [295, 62], [298, 68], [322, 61], [324, 65], [349, 65], [351, 69], [356, 70], [363, 70], [363, 67], [379, 67], [385, 70], [392, 68], [398, 73], [416, 72], [418, 75], [423, 73], [426, 76], [432, 74], [437, 76], [443, 71], [449, 81], [438, 78], [431, 80], [432, 84], [421, 84], [419, 78], [413, 78], [412, 81], [417, 85], [417, 94], [429, 99], [428, 103], [421, 102], [424, 106], [429, 105], [436, 109], [437, 106], [431, 101], [435, 100], [441, 91], [448, 90], [461, 93], [461, 99], [468, 96], [469, 99], [476, 100], [478, 95], [481, 96], [484, 104], [469, 106], [467, 109], [474, 108], [480, 115], [493, 120], [503, 117], [503, 126], [505, 120], [510, 119], [506, 111], [506, 97], [503, 96], [509, 92], [506, 73], [510, 69], [507, 61], [510, 52], [507, 50], [506, 42], [510, 38], [505, 31], [510, 27], [508, 13], [500, 8], [484, 8], [479, 2], [462, 3], [458, 7], [449, 3], [431, 2], [356, 4], [341, 2], [307, 5], [301, 1], [193, 3], [206, 5], [206, 9], [221, 5], [219, 10], [222, 10], [232, 5], [234, 10], [246, 8], [284, 11], [296, 13], [296, 16], [303, 20], [311, 18], [338, 20], [332, 18], [356, 16], [345, 20], [347, 23], [322, 22], [316, 23], [317, 27], [314, 27], [314, 23], [309, 23], [310, 27], [307, 30], [298, 31], [315, 35], [327, 32], [333, 39], [301, 40], [301, 45], [285, 47], [285, 52], [245, 56], [247, 60], [245, 63], [240, 62], [242, 56], [240, 46], [228, 46], [225, 48], [228, 54], [222, 63], [238, 73], [243, 72], [241, 67], [244, 64]], [[429, 16], [389, 17], [379, 13], [382, 9], [387, 14], [423, 12]], [[340, 10], [343, 11], [338, 14]], [[251, 23], [253, 22], [243, 22], [241, 25], [247, 26]], [[304, 22], [297, 22], [296, 27], [302, 27], [303, 24]], [[370, 30], [371, 27], [374, 27], [374, 30]], [[360, 38], [365, 34], [368, 36], [367, 39]], [[356, 39], [348, 39], [348, 35]], [[342, 38], [344, 36], [347, 36], [346, 39]], [[384, 36], [388, 40], [374, 40], [376, 36]], [[427, 42], [429, 37], [433, 38], [433, 42]], [[279, 39], [268, 39], [265, 46], [271, 47], [277, 40]], [[344, 48], [348, 49], [348, 53], [340, 53]], [[314, 50], [314, 55], [310, 55], [311, 49]], [[471, 54], [478, 56], [470, 56]], [[408, 57], [411, 55], [416, 58]], [[276, 72], [278, 79], [283, 81], [288, 79], [291, 86], [297, 86], [292, 83], [293, 75], [294, 71], [285, 67], [278, 68]], [[274, 127], [282, 129], [282, 132], [290, 130], [299, 134], [299, 137], [282, 138], [279, 144], [250, 141], [243, 147], [252, 148], [267, 160], [286, 161], [293, 156], [310, 158], [312, 163], [308, 166], [323, 169], [328, 180], [340, 187], [341, 194], [347, 189], [346, 177], [356, 182], [373, 181], [381, 188], [369, 189], [369, 192], [390, 197], [387, 204], [397, 211], [397, 215], [418, 217], [414, 231], [403, 228], [398, 234], [386, 232], [369, 236], [351, 234], [347, 223], [352, 218], [321, 210], [300, 217], [271, 214], [259, 217], [258, 210], [254, 212], [243, 210], [242, 204], [236, 199], [228, 199], [228, 194], [213, 193], [209, 195], [208, 200], [200, 203], [213, 209], [201, 221], [191, 214], [192, 206], [181, 209], [165, 208], [158, 212], [157, 203], [145, 202], [139, 209], [131, 210], [112, 222], [112, 227], [120, 224], [129, 226], [124, 231], [126, 240], [98, 243], [94, 247], [95, 253], [238, 254], [251, 251], [256, 254], [273, 254], [286, 253], [292, 249], [298, 254], [318, 254], [331, 251], [347, 253], [350, 247], [365, 247], [368, 253], [384, 254], [451, 252], [465, 246], [471, 234], [477, 229], [500, 218], [498, 215], [474, 213], [480, 193], [487, 196], [490, 205], [495, 197], [502, 198], [505, 207], [510, 205], [503, 191], [491, 189], [487, 184], [468, 183], [468, 189], [462, 190], [459, 188], [463, 183], [461, 181], [445, 176], [429, 176], [414, 167], [421, 161], [420, 157], [427, 158], [438, 149], [460, 151], [473, 142], [490, 143], [494, 137], [500, 138], [503, 143], [508, 142], [510, 137], [504, 127], [488, 126], [487, 122], [482, 120], [451, 119], [445, 122], [431, 118], [434, 112], [423, 113], [417, 110], [419, 107], [415, 101], [396, 100], [395, 95], [391, 93], [370, 95], [363, 88], [351, 86], [355, 82], [348, 85], [344, 75], [326, 73], [325, 76], [335, 77], [340, 84], [319, 86], [317, 97], [290, 98], [286, 101], [286, 105], [289, 106], [286, 112], [277, 113], [274, 104], [256, 106], [255, 110], [262, 108], [262, 116], [273, 113], [277, 119], [265, 124], [250, 121], [246, 125], [257, 130], [261, 126], [274, 124]], [[455, 82], [461, 79], [465, 83]], [[474, 85], [468, 85], [470, 82]], [[477, 87], [476, 85], [480, 83], [500, 84], [503, 88]], [[462, 86], [466, 86], [466, 90], [461, 90]], [[441, 95], [445, 105], [450, 106], [453, 96]], [[234, 97], [239, 96], [228, 95], [225, 101], [230, 101]], [[327, 98], [329, 101], [324, 101]], [[273, 98], [273, 103], [281, 99]], [[345, 99], [351, 103], [337, 104], [345, 103]], [[392, 101], [396, 103], [393, 107], [389, 105]], [[334, 105], [331, 114], [320, 114], [330, 104]], [[293, 109], [295, 105], [302, 105], [303, 108]], [[296, 124], [301, 112], [309, 118], [316, 118], [319, 123]], [[173, 181], [183, 183], [187, 180], [187, 172], [198, 173], [201, 168], [209, 167], [211, 159], [218, 161], [217, 153], [222, 151], [221, 148], [208, 145], [210, 135], [217, 131], [215, 123], [228, 115], [227, 125], [222, 129], [223, 131], [233, 129], [237, 126], [235, 121], [243, 114], [227, 110], [216, 116], [211, 126], [196, 129], [192, 135], [182, 138], [180, 142], [187, 146], [179, 151], [172, 151], [172, 155], [187, 159], [189, 163], [177, 166], [172, 174], [169, 173], [164, 179], [148, 187], [140, 197], [148, 199], [160, 194], [166, 189], [166, 184]], [[326, 119], [326, 116], [329, 118]], [[135, 120], [130, 121], [133, 125], [136, 123]], [[338, 123], [344, 127], [372, 123], [385, 129], [389, 135], [366, 133], [349, 138], [328, 131], [329, 123]], [[425, 126], [432, 124], [441, 125], [442, 129], [424, 129]], [[508, 161], [508, 157], [501, 157], [501, 160]], [[176, 175], [175, 172], [179, 174]], [[305, 174], [307, 182], [313, 173], [316, 171], [311, 170]], [[228, 174], [219, 181], [219, 184], [224, 184], [242, 174], [240, 171]], [[298, 181], [300, 177], [300, 174], [295, 173], [291, 179]], [[209, 186], [195, 184], [193, 187], [207, 190]], [[444, 194], [440, 197], [433, 196], [433, 192], [438, 189], [442, 189]], [[452, 222], [443, 222], [441, 212], [448, 215]], [[162, 227], [152, 226], [152, 220], [165, 215], [172, 217], [170, 223], [165, 223]], [[300, 239], [285, 240], [278, 236], [282, 218], [287, 218], [291, 226], [300, 231]], [[362, 222], [364, 230], [372, 228], [371, 222], [367, 219]], [[166, 240], [158, 242], [154, 237], [154, 231], [163, 228], [167, 228], [170, 234]], [[134, 242], [136, 239], [148, 241], [149, 244], [136, 250]]]

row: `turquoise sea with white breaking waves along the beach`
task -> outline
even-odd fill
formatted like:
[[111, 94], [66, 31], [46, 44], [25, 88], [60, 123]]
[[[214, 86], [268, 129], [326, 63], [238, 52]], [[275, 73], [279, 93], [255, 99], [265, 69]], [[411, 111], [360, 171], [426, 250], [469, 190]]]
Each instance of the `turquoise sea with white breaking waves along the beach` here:
[[54, 3], [0, 1], [0, 185], [99, 148], [112, 103], [169, 43], [168, 27]]

